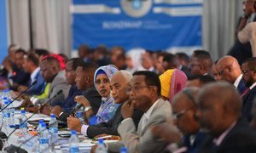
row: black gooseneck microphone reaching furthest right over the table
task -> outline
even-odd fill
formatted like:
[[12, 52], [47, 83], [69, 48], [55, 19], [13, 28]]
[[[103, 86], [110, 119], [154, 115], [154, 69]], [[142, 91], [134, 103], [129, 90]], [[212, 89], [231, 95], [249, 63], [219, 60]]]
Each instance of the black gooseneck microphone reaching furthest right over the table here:
[[[42, 109], [45, 105], [48, 105], [51, 100], [55, 99], [55, 98], [56, 98], [57, 96], [59, 96], [62, 92], [63, 92], [62, 90], [59, 90], [59, 91], [57, 92], [57, 94], [55, 94], [55, 95], [54, 95], [51, 99], [49, 99], [46, 103], [44, 103], [43, 105], [41, 105], [41, 106], [39, 107], [38, 111], [34, 112], [34, 113], [32, 114], [32, 116], [36, 115], [39, 111], [41, 111], [41, 109]], [[32, 116], [27, 117], [24, 122], [27, 122], [30, 118], [32, 118]], [[22, 122], [21, 124], [23, 124], [24, 122]], [[12, 133], [15, 133], [15, 131], [16, 131], [17, 129], [19, 129], [19, 127], [16, 127], [11, 133], [9, 133], [9, 136], [8, 136], [7, 139], [6, 139], [6, 142], [8, 142], [9, 137], [12, 135]], [[29, 140], [30, 140], [30, 139], [29, 139]], [[25, 144], [26, 142], [27, 142], [27, 141], [23, 142], [22, 144]], [[22, 144], [20, 144], [20, 146], [21, 146]], [[17, 147], [17, 146], [15, 146], [15, 145], [12, 144], [12, 145], [9, 146], [11, 149], [10, 149], [9, 147], [7, 147], [7, 148], [9, 148], [9, 149], [6, 149], [6, 150], [12, 150], [12, 151], [20, 150], [20, 146]]]

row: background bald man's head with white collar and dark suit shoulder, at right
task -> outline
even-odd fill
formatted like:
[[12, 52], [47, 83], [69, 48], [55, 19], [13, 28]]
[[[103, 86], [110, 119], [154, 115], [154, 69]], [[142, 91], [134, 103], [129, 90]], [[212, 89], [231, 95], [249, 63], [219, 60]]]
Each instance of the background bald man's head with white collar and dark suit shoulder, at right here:
[[218, 74], [222, 80], [234, 84], [240, 94], [247, 89], [242, 79], [241, 68], [237, 60], [232, 56], [224, 56], [217, 63]]

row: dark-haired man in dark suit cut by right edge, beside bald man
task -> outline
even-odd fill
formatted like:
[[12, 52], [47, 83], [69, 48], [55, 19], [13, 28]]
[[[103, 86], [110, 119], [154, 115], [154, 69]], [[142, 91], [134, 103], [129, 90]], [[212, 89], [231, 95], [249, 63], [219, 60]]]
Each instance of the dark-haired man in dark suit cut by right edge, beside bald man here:
[[245, 116], [248, 121], [251, 121], [253, 99], [256, 97], [256, 57], [246, 59], [241, 65], [241, 71], [248, 88], [242, 95], [242, 116]]

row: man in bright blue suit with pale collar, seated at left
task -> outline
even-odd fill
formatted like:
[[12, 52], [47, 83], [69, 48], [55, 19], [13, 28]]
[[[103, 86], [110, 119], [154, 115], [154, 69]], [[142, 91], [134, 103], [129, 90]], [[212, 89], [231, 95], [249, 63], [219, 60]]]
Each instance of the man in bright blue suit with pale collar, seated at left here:
[[[42, 77], [39, 65], [39, 59], [35, 54], [25, 54], [23, 56], [23, 69], [27, 73], [30, 73], [30, 83], [37, 81], [37, 83], [30, 88], [26, 94], [29, 95], [40, 95], [44, 92], [44, 88], [46, 86], [46, 82], [44, 82], [44, 78]], [[18, 90], [20, 92], [24, 91], [27, 87], [20, 85]]]

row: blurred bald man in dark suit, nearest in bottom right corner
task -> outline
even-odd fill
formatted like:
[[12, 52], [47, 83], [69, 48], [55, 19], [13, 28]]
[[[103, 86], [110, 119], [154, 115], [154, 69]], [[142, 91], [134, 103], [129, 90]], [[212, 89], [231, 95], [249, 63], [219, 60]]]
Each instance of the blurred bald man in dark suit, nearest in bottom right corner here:
[[241, 98], [227, 82], [207, 84], [199, 94], [196, 116], [209, 133], [199, 152], [256, 152], [256, 135], [241, 118]]

